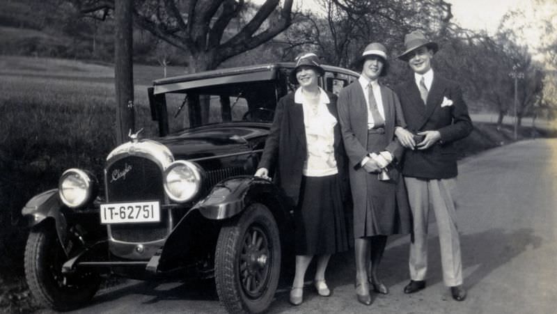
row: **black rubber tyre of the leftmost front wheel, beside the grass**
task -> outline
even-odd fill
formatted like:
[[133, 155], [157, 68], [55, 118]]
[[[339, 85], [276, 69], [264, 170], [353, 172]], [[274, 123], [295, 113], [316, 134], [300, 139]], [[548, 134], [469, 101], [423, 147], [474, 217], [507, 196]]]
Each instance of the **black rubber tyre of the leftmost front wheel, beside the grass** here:
[[99, 289], [100, 276], [95, 273], [79, 278], [86, 280], [83, 284], [58, 285], [51, 269], [61, 269], [65, 260], [54, 226], [46, 223], [31, 230], [25, 247], [25, 277], [40, 306], [56, 311], [74, 310], [90, 301]]

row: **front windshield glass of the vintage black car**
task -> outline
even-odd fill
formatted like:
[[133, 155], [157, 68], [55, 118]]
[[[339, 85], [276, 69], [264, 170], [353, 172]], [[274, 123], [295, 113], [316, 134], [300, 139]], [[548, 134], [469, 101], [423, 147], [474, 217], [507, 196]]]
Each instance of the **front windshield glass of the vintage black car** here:
[[215, 123], [267, 122], [274, 116], [274, 81], [242, 82], [166, 93], [169, 131]]

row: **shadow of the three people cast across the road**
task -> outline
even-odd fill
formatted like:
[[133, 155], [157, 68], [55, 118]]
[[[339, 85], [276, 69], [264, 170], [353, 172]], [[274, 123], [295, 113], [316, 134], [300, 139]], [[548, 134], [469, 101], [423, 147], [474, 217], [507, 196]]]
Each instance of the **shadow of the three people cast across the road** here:
[[[408, 254], [410, 237], [395, 236], [396, 242], [389, 244], [385, 251], [379, 274], [388, 287], [409, 281]], [[405, 241], [406, 240], [406, 241]], [[496, 228], [480, 233], [464, 234], [460, 237], [462, 247], [462, 265], [464, 285], [472, 288], [485, 276], [501, 265], [512, 260], [526, 249], [538, 249], [542, 244], [542, 237], [534, 234], [530, 228], [519, 230], [503, 230]], [[429, 269], [427, 285], [434, 285], [443, 281], [441, 272], [441, 253], [439, 237], [428, 239]], [[473, 269], [466, 272], [466, 269]], [[313, 278], [313, 269], [308, 269], [306, 279]], [[356, 277], [354, 269], [354, 253], [352, 251], [337, 254], [331, 258], [327, 269], [327, 282], [332, 288], [341, 285], [354, 285]]]

